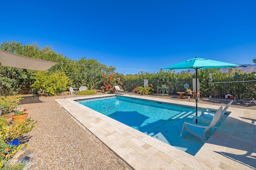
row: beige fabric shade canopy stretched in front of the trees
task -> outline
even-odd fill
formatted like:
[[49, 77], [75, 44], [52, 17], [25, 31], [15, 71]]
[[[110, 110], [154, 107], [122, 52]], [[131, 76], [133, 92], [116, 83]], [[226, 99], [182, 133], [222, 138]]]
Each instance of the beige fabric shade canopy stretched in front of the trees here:
[[31, 57], [26, 57], [23, 55], [18, 55], [2, 50], [0, 50], [0, 62], [2, 66], [24, 68], [28, 70], [38, 71], [45, 71], [54, 66], [55, 64], [59, 64], [52, 61], [34, 59]]

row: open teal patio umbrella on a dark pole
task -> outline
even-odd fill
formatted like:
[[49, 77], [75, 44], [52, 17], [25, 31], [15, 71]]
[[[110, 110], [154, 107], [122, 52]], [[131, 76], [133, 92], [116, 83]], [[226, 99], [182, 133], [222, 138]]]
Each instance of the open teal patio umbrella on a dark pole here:
[[[187, 61], [183, 61], [181, 63], [177, 63], [168, 67], [161, 68], [162, 69], [195, 69], [196, 70], [196, 116], [197, 116], [197, 70], [203, 68], [235, 68], [236, 66], [243, 66], [239, 64], [231, 64], [231, 63], [224, 63], [221, 61], [209, 60], [209, 59], [202, 59], [195, 57], [194, 59], [190, 59]], [[244, 66], [245, 67], [245, 66]], [[196, 119], [197, 123], [197, 119]]]

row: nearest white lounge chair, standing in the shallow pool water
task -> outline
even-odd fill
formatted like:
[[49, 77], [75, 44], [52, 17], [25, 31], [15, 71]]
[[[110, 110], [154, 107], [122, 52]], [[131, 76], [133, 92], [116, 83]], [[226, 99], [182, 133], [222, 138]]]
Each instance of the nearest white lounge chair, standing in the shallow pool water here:
[[[193, 118], [193, 122], [184, 121], [184, 125], [183, 125], [181, 133], [180, 133], [180, 137], [182, 137], [183, 131], [186, 130], [189, 133], [191, 133], [192, 135], [201, 139], [205, 143], [207, 141], [206, 137], [205, 137], [206, 133], [211, 135], [210, 129], [211, 129], [211, 127], [216, 125], [216, 123], [219, 121], [221, 112], [222, 112], [222, 106], [220, 106], [218, 111], [214, 114], [214, 117], [212, 120], [204, 118], [204, 117], [195, 116]], [[209, 125], [202, 125], [199, 123], [195, 123], [196, 119], [208, 120], [208, 121], [211, 121], [211, 123]]]

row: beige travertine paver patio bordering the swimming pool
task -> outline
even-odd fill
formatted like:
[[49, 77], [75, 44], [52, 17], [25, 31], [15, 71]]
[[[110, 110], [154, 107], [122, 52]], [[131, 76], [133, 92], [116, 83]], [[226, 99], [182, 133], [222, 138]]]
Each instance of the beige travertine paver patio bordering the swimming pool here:
[[[229, 107], [230, 115], [196, 155], [192, 156], [74, 101], [101, 96], [113, 96], [113, 94], [58, 99], [56, 102], [134, 169], [256, 169], [255, 110]], [[195, 105], [192, 102], [178, 100], [132, 97], [187, 106]], [[198, 106], [218, 108], [208, 104], [198, 104]]]

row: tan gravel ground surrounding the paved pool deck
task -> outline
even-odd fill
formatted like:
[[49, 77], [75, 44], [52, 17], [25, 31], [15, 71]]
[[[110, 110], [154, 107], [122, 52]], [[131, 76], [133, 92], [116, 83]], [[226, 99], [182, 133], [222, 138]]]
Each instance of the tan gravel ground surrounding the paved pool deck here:
[[[98, 93], [101, 94], [101, 93]], [[152, 95], [151, 95], [152, 96]], [[29, 97], [20, 102], [29, 117], [38, 120], [36, 127], [21, 140], [35, 152], [34, 170], [121, 170], [124, 166], [111, 156], [90, 132], [85, 131], [60, 107], [55, 99], [71, 98], [74, 95], [54, 97]], [[194, 99], [178, 99], [178, 96], [152, 96], [195, 102]], [[199, 103], [225, 106], [229, 100], [200, 98]], [[246, 102], [246, 101], [244, 101]], [[254, 109], [248, 103], [232, 103], [231, 107]]]

